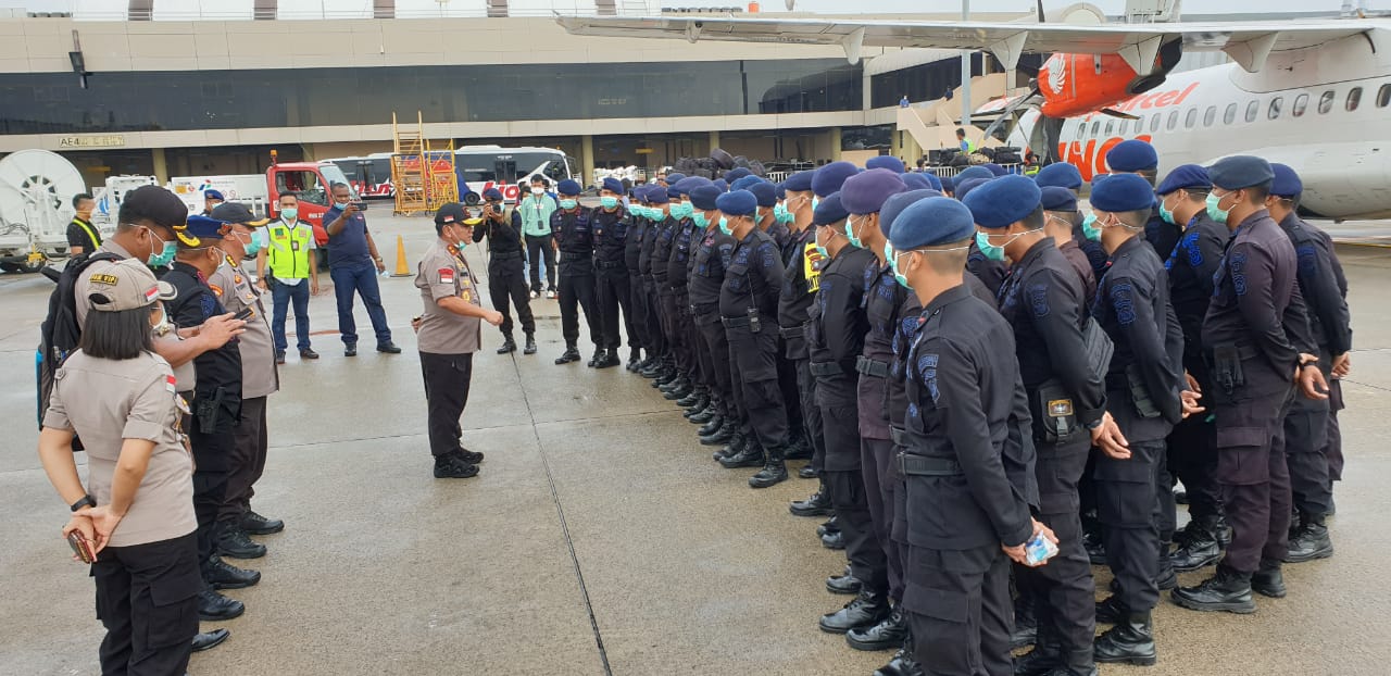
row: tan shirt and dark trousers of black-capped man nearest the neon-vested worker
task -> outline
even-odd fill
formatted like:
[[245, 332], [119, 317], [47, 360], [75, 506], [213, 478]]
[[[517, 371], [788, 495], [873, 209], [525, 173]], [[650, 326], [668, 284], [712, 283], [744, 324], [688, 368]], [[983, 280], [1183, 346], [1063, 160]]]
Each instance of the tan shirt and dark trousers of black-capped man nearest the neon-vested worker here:
[[238, 337], [236, 344], [242, 355], [242, 417], [232, 433], [236, 448], [232, 472], [227, 478], [227, 495], [218, 512], [218, 520], [236, 523], [250, 509], [253, 485], [266, 470], [266, 453], [270, 448], [266, 402], [280, 389], [280, 371], [275, 367], [275, 346], [262, 292], [252, 284], [246, 261], [234, 266], [231, 259], [223, 260], [207, 278], [207, 285], [227, 312], [239, 313], [249, 307], [255, 313], [246, 320], [246, 332]]

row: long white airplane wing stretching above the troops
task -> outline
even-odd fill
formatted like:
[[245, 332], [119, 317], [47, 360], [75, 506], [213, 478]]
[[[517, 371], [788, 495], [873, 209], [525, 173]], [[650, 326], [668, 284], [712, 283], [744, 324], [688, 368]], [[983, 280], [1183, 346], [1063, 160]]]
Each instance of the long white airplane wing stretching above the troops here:
[[1185, 51], [1225, 51], [1242, 68], [1259, 71], [1271, 51], [1313, 47], [1372, 31], [1352, 19], [1251, 21], [1217, 24], [993, 24], [951, 21], [765, 19], [732, 17], [556, 17], [576, 35], [669, 38], [697, 42], [840, 45], [850, 63], [862, 46], [983, 49], [1013, 70], [1024, 53], [1120, 54], [1139, 74], [1153, 70], [1161, 45], [1182, 40]]

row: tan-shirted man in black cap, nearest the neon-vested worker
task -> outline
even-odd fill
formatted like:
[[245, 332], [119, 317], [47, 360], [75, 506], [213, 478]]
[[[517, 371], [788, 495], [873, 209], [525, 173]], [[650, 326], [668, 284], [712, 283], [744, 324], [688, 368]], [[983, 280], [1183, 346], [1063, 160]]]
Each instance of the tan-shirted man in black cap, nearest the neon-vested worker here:
[[248, 534], [267, 536], [280, 533], [285, 523], [267, 519], [252, 510], [252, 488], [266, 470], [266, 452], [270, 437], [266, 433], [266, 398], [280, 389], [280, 373], [275, 369], [275, 346], [270, 332], [270, 320], [262, 303], [262, 292], [246, 268], [246, 260], [256, 264], [256, 252], [262, 239], [253, 228], [270, 223], [256, 218], [245, 204], [223, 203], [213, 209], [213, 218], [231, 224], [231, 232], [223, 238], [221, 249], [227, 255], [223, 264], [207, 278], [217, 299], [227, 312], [246, 314], [246, 332], [236, 346], [242, 353], [242, 419], [232, 433], [236, 449], [232, 458], [232, 474], [227, 478], [227, 497], [218, 523], [223, 524], [218, 547], [221, 549], [264, 549]]

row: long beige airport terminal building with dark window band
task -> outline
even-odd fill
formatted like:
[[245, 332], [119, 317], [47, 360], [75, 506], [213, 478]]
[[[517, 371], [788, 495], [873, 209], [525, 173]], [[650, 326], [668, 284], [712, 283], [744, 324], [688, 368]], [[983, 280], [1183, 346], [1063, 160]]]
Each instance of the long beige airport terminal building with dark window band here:
[[[430, 139], [556, 147], [584, 177], [714, 146], [819, 164], [864, 147], [912, 157], [894, 132], [900, 97], [960, 85], [954, 51], [867, 47], [850, 64], [839, 47], [574, 36], [551, 18], [662, 13], [652, 0], [335, 1], [191, 14], [78, 0], [72, 15], [0, 17], [0, 154], [58, 152], [89, 185], [245, 174], [273, 149], [281, 161], [391, 152], [392, 114], [415, 125], [419, 111]], [[975, 74], [992, 67], [975, 56]]]

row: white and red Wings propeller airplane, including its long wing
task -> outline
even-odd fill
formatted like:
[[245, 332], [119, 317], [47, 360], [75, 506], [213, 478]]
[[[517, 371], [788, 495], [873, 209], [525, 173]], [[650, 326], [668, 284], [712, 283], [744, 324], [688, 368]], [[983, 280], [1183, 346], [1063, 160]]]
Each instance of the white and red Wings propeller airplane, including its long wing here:
[[[1160, 175], [1178, 164], [1257, 154], [1299, 172], [1309, 216], [1391, 217], [1385, 18], [1104, 25], [665, 15], [556, 21], [577, 35], [840, 45], [851, 63], [867, 45], [983, 49], [1006, 70], [1024, 53], [1049, 53], [1034, 90], [995, 102], [1007, 113], [1035, 106], [1010, 134], [1013, 145], [1072, 161], [1086, 178], [1104, 174], [1106, 150], [1127, 138], [1155, 145]], [[1234, 63], [1170, 72], [1182, 51], [1213, 50]]]

